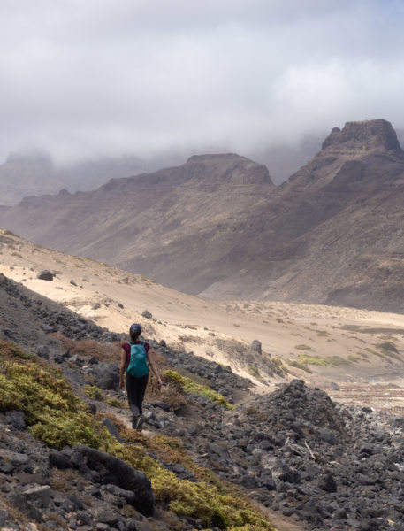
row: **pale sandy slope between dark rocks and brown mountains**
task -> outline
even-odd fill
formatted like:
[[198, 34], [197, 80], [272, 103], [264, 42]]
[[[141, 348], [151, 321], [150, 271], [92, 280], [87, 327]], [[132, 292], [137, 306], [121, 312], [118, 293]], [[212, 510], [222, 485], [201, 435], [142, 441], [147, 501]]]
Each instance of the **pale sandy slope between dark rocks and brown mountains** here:
[[[126, 332], [133, 321], [141, 322], [149, 338], [164, 339], [170, 346], [230, 365], [263, 391], [285, 379], [262, 374], [264, 381], [270, 381], [263, 386], [248, 372], [247, 363], [217, 347], [217, 338], [229, 344], [242, 342], [246, 351], [257, 339], [263, 344], [264, 356], [282, 358], [286, 366], [301, 354], [349, 361], [349, 365], [332, 367], [310, 365], [312, 373], [289, 366], [288, 378], [303, 378], [311, 384], [382, 378], [404, 385], [404, 363], [377, 354], [377, 343], [387, 340], [404, 352], [404, 315], [309, 304], [207, 301], [164, 288], [141, 275], [7, 236], [13, 241], [0, 248], [0, 273], [113, 331]], [[56, 273], [54, 281], [38, 280], [42, 269]], [[141, 317], [146, 309], [153, 319]], [[346, 325], [392, 330], [369, 334], [341, 329]], [[301, 345], [310, 350], [296, 348]]]

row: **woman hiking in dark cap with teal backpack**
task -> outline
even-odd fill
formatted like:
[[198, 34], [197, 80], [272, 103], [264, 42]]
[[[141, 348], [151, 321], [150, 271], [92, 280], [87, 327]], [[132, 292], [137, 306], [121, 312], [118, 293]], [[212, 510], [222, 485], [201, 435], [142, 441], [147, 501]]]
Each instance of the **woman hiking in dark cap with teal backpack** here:
[[132, 427], [137, 431], [141, 431], [143, 426], [141, 405], [149, 381], [149, 367], [156, 374], [158, 389], [163, 385], [153, 359], [153, 350], [150, 349], [148, 342], [139, 339], [140, 335], [141, 325], [133, 323], [129, 329], [130, 342], [122, 345], [119, 371], [119, 388], [125, 389], [126, 383], [127, 401], [133, 414]]

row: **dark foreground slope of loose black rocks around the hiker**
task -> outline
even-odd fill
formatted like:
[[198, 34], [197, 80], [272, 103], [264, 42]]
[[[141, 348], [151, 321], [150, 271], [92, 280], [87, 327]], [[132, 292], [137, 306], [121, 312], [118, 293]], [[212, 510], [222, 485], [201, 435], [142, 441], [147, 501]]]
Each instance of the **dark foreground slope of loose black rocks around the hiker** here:
[[[271, 514], [279, 530], [404, 529], [402, 417], [391, 417], [369, 407], [344, 407], [333, 403], [324, 391], [298, 380], [280, 386], [270, 395], [255, 396], [249, 382], [228, 367], [154, 343], [162, 368], [179, 370], [195, 382], [208, 383], [230, 403], [239, 402], [234, 396], [237, 389], [242, 401], [235, 409], [228, 409], [224, 402], [212, 401], [208, 395], [170, 391], [167, 381], [161, 396], [149, 389], [146, 436], [133, 438], [133, 433], [125, 428], [128, 412], [117, 388], [118, 365], [111, 359], [111, 341], [117, 336], [72, 312], [57, 309], [56, 304], [3, 276], [0, 301], [2, 386], [6, 381], [10, 389], [21, 385], [23, 380], [17, 374], [24, 373], [27, 378], [30, 371], [41, 367], [44, 371], [54, 367], [50, 374], [57, 374], [56, 367], [61, 369], [108, 430], [104, 438], [113, 437], [116, 444], [121, 444], [121, 455], [132, 455], [134, 443], [138, 454], [142, 451], [148, 459], [156, 459], [160, 473], [177, 481], [169, 492], [155, 483], [155, 500], [145, 476], [121, 459], [95, 450], [91, 444], [71, 443], [63, 448], [55, 444], [56, 448], [52, 448], [40, 442], [32, 434], [45, 437], [46, 430], [38, 430], [38, 426], [46, 415], [35, 411], [33, 418], [27, 403], [19, 409], [11, 407], [12, 400], [18, 399], [10, 391], [4, 395], [2, 387], [2, 528], [218, 530], [225, 527], [225, 516], [223, 513], [219, 518], [219, 512], [211, 512], [210, 505], [216, 504], [216, 498], [212, 497], [210, 505], [203, 508], [203, 504], [194, 505], [196, 500], [191, 493], [198, 486], [202, 496], [206, 481], [214, 481], [216, 486], [218, 481], [230, 481], [263, 512]], [[64, 335], [53, 335], [54, 330]], [[80, 342], [86, 335], [103, 343], [91, 343], [90, 351], [88, 342]], [[29, 359], [20, 358], [17, 343], [34, 356], [32, 361], [39, 369], [33, 369]], [[80, 353], [75, 353], [78, 347]], [[22, 362], [17, 373], [4, 364], [7, 359]], [[45, 383], [51, 387], [52, 379], [44, 378], [44, 374], [40, 372], [35, 385]], [[90, 398], [86, 385], [99, 392]], [[27, 388], [19, 389], [27, 392]], [[60, 381], [56, 389], [65, 400], [72, 399]], [[46, 396], [43, 394], [45, 400]], [[32, 400], [42, 404], [38, 395]], [[46, 407], [49, 414], [49, 404]], [[150, 466], [149, 470], [153, 473]], [[217, 479], [208, 471], [216, 473]], [[174, 512], [169, 511], [170, 496], [184, 488], [189, 489], [189, 512], [181, 515], [179, 504], [172, 504]], [[214, 490], [210, 492], [214, 496]], [[216, 514], [213, 520], [210, 514]], [[265, 528], [263, 522], [258, 528]]]

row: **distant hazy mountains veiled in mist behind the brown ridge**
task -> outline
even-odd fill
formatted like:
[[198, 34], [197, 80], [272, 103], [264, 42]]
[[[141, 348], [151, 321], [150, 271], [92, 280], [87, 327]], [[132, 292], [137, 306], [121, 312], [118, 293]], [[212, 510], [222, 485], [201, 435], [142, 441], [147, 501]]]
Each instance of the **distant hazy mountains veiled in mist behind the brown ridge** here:
[[[322, 135], [305, 135], [300, 142], [256, 148], [247, 157], [267, 165], [272, 180], [280, 184], [315, 155], [322, 140]], [[194, 154], [190, 150], [167, 150], [149, 158], [126, 154], [60, 162], [42, 150], [11, 152], [0, 164], [0, 207], [18, 204], [27, 196], [54, 195], [61, 189], [71, 193], [94, 190], [110, 179], [181, 165]]]

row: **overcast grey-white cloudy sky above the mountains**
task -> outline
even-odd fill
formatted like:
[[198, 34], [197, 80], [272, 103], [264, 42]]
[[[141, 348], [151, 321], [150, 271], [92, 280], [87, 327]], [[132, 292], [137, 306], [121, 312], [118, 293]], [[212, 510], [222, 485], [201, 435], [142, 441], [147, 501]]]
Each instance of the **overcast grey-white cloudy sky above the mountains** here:
[[0, 161], [404, 127], [404, 0], [0, 0]]

